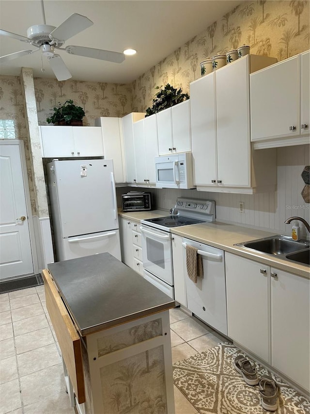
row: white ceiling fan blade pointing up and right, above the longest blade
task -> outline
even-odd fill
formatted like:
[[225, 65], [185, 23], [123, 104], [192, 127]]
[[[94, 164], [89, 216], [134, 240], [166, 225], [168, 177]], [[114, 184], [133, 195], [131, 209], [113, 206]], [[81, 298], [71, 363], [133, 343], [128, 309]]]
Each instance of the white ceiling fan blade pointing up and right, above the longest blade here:
[[65, 42], [70, 37], [82, 32], [88, 27], [92, 26], [93, 22], [88, 17], [74, 13], [68, 17], [62, 24], [54, 29], [49, 37], [53, 40], [59, 40]]

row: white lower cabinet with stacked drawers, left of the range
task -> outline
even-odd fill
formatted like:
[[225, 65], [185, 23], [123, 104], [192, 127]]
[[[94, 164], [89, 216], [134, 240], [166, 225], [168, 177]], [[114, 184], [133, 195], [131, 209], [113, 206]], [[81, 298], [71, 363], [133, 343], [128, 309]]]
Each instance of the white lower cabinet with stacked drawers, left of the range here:
[[140, 223], [124, 217], [121, 223], [122, 262], [143, 275]]

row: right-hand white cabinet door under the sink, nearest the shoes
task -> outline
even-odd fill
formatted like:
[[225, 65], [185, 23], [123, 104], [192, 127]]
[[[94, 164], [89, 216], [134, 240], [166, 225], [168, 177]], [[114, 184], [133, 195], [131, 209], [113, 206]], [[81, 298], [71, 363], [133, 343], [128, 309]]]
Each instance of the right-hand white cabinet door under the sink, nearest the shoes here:
[[271, 363], [310, 389], [310, 280], [271, 268]]

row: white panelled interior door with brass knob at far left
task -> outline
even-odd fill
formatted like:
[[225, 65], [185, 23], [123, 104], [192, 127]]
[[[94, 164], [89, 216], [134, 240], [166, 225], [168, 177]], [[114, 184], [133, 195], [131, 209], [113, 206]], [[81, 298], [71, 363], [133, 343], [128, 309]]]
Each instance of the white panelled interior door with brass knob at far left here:
[[0, 145], [0, 188], [0, 279], [6, 279], [33, 273], [19, 145]]

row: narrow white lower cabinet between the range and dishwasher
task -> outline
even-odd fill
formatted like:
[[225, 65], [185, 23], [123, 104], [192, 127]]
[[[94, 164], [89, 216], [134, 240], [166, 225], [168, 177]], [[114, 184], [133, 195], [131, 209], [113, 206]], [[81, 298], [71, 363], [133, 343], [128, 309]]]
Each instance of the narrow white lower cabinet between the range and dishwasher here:
[[182, 236], [172, 236], [172, 261], [174, 277], [174, 299], [187, 307], [185, 272], [183, 265]]

